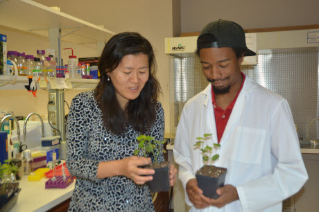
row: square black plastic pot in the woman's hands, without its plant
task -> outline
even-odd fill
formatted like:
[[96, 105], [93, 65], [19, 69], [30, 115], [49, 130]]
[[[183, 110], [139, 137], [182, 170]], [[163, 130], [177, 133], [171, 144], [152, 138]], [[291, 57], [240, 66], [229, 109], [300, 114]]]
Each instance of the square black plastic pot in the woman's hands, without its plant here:
[[153, 180], [148, 182], [151, 193], [169, 191], [169, 166], [154, 168]]

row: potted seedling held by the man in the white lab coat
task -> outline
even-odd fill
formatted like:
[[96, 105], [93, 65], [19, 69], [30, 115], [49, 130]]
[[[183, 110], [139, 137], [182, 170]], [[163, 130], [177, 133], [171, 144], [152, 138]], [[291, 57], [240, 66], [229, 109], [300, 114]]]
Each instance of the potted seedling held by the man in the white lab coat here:
[[[217, 199], [217, 188], [224, 186], [227, 168], [213, 166], [212, 164], [219, 158], [219, 154], [212, 156], [213, 148], [221, 148], [219, 143], [214, 143], [214, 147], [206, 144], [206, 141], [212, 137], [212, 134], [204, 134], [204, 137], [196, 138], [194, 149], [200, 149], [204, 166], [196, 172], [198, 188], [202, 189], [203, 195], [212, 199]], [[208, 165], [207, 165], [208, 164]]]

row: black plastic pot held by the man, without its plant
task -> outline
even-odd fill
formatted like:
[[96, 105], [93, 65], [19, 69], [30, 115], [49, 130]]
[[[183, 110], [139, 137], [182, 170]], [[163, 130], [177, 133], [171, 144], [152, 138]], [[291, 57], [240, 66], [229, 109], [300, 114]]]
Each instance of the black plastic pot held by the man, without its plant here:
[[219, 195], [216, 193], [217, 188], [224, 186], [227, 170], [219, 177], [207, 177], [203, 175], [197, 175], [198, 188], [202, 189], [202, 193], [205, 197], [211, 199], [217, 199]]

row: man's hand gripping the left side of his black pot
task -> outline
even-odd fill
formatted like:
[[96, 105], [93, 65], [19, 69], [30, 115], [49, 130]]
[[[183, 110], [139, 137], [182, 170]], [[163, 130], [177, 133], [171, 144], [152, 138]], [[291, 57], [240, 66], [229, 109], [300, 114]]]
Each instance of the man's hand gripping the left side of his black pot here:
[[209, 204], [202, 200], [202, 190], [198, 188], [197, 179], [190, 179], [186, 184], [186, 191], [189, 197], [189, 200], [197, 209], [205, 209]]

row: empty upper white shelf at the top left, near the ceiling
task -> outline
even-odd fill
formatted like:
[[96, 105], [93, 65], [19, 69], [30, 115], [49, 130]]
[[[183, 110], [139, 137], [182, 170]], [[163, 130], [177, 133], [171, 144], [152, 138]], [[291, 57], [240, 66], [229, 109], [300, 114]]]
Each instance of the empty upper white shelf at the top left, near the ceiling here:
[[0, 0], [0, 25], [46, 37], [49, 28], [61, 28], [61, 40], [75, 44], [106, 42], [114, 35], [110, 30], [30, 0]]

